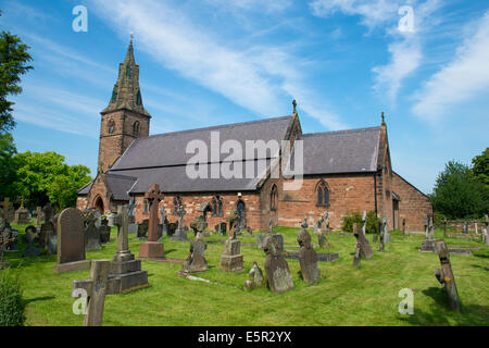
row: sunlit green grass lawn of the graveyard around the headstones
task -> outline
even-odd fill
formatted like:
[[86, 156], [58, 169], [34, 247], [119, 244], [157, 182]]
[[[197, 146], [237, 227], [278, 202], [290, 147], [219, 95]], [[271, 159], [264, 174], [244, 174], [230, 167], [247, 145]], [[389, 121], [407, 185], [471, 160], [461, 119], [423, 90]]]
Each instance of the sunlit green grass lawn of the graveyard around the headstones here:
[[[21, 231], [20, 251], [4, 253], [11, 262], [9, 272], [20, 276], [24, 297], [28, 301], [27, 325], [83, 324], [83, 315], [72, 311], [71, 297], [74, 279], [88, 278], [89, 271], [53, 274], [55, 256], [22, 258], [25, 248], [21, 244], [25, 226]], [[298, 228], [276, 227], [285, 237], [285, 248], [299, 250]], [[310, 231], [311, 232], [311, 231]], [[255, 233], [256, 235], [258, 233]], [[312, 234], [312, 232], [311, 232]], [[192, 235], [189, 233], [189, 236]], [[105, 298], [104, 325], [489, 325], [489, 247], [462, 238], [447, 238], [448, 245], [480, 247], [474, 256], [451, 256], [453, 272], [461, 299], [462, 312], [454, 313], [434, 275], [440, 266], [438, 254], [418, 252], [423, 236], [402, 236], [392, 232], [392, 243], [385, 252], [378, 252], [378, 243], [372, 243], [375, 257], [362, 260], [361, 268], [353, 269], [355, 239], [349, 234], [334, 232], [328, 236], [330, 249], [339, 260], [321, 262], [323, 279], [309, 286], [300, 278], [298, 260], [287, 260], [294, 288], [281, 295], [268, 289], [244, 291], [248, 271], [258, 261], [264, 271], [265, 253], [251, 246], [241, 246], [246, 273], [233, 274], [218, 269], [223, 252], [221, 243], [209, 243], [205, 258], [210, 270], [196, 276], [218, 284], [192, 282], [176, 274], [178, 264], [142, 261], [148, 271], [150, 287], [126, 295]], [[442, 232], [437, 231], [438, 238]], [[111, 243], [103, 250], [87, 252], [87, 259], [112, 259], [116, 251], [115, 229]], [[138, 256], [142, 241], [129, 235], [129, 247]], [[208, 241], [224, 240], [211, 236]], [[241, 243], [251, 244], [254, 237], [240, 236]], [[317, 237], [313, 236], [317, 245]], [[164, 240], [168, 259], [184, 260], [189, 244]], [[318, 249], [316, 249], [318, 250]], [[322, 250], [323, 252], [325, 250]], [[414, 290], [414, 314], [401, 315], [398, 296], [402, 288]]]

